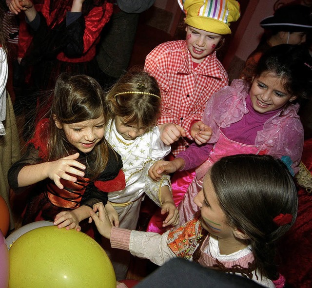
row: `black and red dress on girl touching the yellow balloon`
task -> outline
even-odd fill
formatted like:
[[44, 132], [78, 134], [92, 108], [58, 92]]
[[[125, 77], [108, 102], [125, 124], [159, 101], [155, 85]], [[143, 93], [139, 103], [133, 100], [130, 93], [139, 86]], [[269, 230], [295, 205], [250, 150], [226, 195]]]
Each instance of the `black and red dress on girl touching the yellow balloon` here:
[[[10, 187], [15, 193], [30, 190], [27, 198], [26, 208], [23, 212], [22, 225], [47, 220], [54, 221], [60, 211], [71, 211], [81, 205], [93, 207], [94, 204], [102, 202], [107, 204], [107, 192], [122, 190], [125, 188], [125, 177], [121, 168], [123, 166], [119, 154], [110, 149], [109, 160], [105, 170], [95, 180], [90, 180], [90, 175], [77, 176], [76, 182], [61, 179], [64, 189], [59, 189], [53, 180], [47, 178], [32, 185], [31, 187], [18, 187], [18, 175], [20, 170], [27, 165], [34, 165], [44, 162], [47, 151], [47, 124], [48, 119], [43, 119], [36, 127], [34, 138], [27, 145], [26, 153], [19, 161], [13, 164], [8, 172]], [[73, 153], [76, 153], [73, 151]], [[86, 164], [88, 154], [81, 152], [78, 162]], [[76, 177], [76, 175], [75, 175]], [[86, 223], [83, 223], [86, 222]], [[90, 236], [93, 233], [88, 225], [88, 219], [80, 222], [81, 229]], [[86, 227], [84, 227], [86, 226]]]

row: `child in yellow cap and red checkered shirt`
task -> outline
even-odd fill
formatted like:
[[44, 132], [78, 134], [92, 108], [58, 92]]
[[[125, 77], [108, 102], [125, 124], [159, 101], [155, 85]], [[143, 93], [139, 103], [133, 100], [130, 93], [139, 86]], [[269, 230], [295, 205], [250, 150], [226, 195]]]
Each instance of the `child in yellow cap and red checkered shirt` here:
[[[172, 159], [189, 145], [206, 143], [211, 130], [201, 120], [214, 92], [228, 85], [228, 75], [216, 57], [230, 24], [240, 16], [235, 0], [178, 0], [186, 15], [186, 39], [158, 45], [145, 60], [145, 71], [154, 76], [161, 92], [157, 124], [161, 140], [171, 145]], [[195, 123], [196, 122], [196, 123]], [[192, 182], [195, 172], [176, 173], [172, 178], [176, 205]], [[158, 210], [159, 212], [159, 210]], [[147, 230], [159, 231], [157, 213]], [[158, 228], [157, 228], [158, 227]]]

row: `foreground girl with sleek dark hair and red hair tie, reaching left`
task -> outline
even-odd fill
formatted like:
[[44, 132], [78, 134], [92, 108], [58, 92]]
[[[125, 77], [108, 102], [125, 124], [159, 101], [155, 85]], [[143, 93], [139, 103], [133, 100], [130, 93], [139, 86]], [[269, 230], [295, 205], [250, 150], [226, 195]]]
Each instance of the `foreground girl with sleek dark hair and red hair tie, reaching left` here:
[[285, 284], [274, 263], [275, 242], [292, 226], [297, 201], [281, 160], [240, 154], [213, 165], [195, 197], [200, 211], [181, 227], [162, 235], [112, 227], [102, 204], [91, 217], [112, 247], [157, 265], [182, 257], [275, 288]]

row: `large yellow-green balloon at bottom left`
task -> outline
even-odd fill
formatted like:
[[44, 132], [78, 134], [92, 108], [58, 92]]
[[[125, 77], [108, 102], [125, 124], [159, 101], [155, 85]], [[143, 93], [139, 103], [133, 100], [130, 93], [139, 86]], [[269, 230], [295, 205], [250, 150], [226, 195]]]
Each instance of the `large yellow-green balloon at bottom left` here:
[[9, 288], [116, 288], [112, 263], [90, 236], [74, 229], [40, 227], [9, 250]]

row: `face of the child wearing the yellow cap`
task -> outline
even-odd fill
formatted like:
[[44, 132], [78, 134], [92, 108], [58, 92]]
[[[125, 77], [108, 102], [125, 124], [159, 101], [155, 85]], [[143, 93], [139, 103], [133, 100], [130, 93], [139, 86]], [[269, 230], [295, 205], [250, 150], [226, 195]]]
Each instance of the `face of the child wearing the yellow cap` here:
[[192, 60], [200, 63], [209, 54], [215, 51], [215, 47], [222, 39], [222, 36], [192, 26], [186, 27], [186, 45], [189, 49]]

